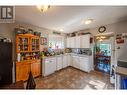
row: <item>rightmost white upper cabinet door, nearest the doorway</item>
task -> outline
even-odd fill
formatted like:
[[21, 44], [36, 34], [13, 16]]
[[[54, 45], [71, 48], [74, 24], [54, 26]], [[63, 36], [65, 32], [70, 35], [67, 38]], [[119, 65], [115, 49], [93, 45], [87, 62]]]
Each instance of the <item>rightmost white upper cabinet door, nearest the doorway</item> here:
[[90, 35], [81, 36], [81, 48], [90, 48]]

